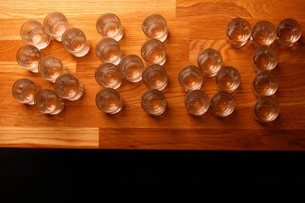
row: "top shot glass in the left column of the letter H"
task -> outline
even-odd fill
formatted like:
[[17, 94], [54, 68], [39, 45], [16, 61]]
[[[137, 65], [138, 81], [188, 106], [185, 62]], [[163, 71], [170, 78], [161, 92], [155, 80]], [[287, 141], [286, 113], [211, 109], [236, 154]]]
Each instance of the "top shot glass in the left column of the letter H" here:
[[104, 13], [99, 17], [97, 20], [97, 30], [101, 36], [113, 38], [117, 42], [124, 35], [120, 20], [113, 13]]

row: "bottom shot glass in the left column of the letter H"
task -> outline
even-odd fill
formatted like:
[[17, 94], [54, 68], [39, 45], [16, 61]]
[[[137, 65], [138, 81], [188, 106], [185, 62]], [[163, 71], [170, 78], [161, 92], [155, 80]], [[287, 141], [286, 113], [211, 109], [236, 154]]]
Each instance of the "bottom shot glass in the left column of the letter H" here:
[[123, 98], [115, 89], [107, 87], [98, 92], [96, 105], [102, 112], [116, 114], [123, 108]]

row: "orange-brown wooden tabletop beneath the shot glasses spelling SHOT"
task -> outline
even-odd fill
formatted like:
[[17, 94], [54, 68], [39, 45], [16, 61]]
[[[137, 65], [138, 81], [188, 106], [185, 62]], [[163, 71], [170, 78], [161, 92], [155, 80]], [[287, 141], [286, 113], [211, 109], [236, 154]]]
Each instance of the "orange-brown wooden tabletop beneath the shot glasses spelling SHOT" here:
[[[21, 25], [27, 20], [42, 23], [52, 11], [62, 12], [91, 44], [89, 53], [81, 58], [72, 56], [55, 40], [42, 50], [64, 61], [69, 73], [84, 84], [83, 96], [76, 101], [66, 100], [65, 109], [58, 115], [46, 115], [34, 105], [18, 103], [11, 92], [13, 83], [24, 77], [44, 88], [53, 88], [53, 83], [22, 69], [16, 62], [17, 50], [25, 44], [19, 36]], [[102, 39], [96, 21], [106, 12], [116, 14], [124, 27], [119, 44], [125, 55], [141, 56], [140, 48], [146, 40], [141, 24], [147, 15], [157, 13], [166, 19], [167, 60], [163, 66], [169, 83], [163, 90], [168, 107], [162, 115], [149, 116], [142, 110], [140, 98], [147, 90], [142, 81], [124, 80], [117, 89], [125, 102], [119, 113], [108, 115], [96, 107], [95, 96], [102, 88], [94, 78], [97, 66], [102, 63], [95, 54], [95, 46]], [[226, 43], [226, 25], [235, 17], [246, 18], [251, 26], [260, 20], [277, 26], [285, 18], [294, 18], [301, 24], [303, 35], [291, 48], [271, 45], [279, 54], [279, 63], [272, 70], [279, 79], [279, 89], [272, 95], [280, 104], [280, 115], [275, 121], [262, 124], [252, 116], [257, 98], [251, 92], [256, 74], [250, 61], [255, 48], [250, 42], [239, 49]], [[2, 0], [0, 29], [0, 147], [305, 150], [303, 0]], [[241, 74], [241, 84], [232, 93], [236, 109], [226, 118], [217, 118], [210, 110], [201, 117], [193, 117], [184, 106], [187, 93], [178, 83], [178, 73], [188, 64], [197, 65], [198, 54], [206, 48], [217, 49], [222, 54], [223, 66], [233, 66]], [[204, 78], [201, 90], [209, 97], [216, 93], [215, 77]]]

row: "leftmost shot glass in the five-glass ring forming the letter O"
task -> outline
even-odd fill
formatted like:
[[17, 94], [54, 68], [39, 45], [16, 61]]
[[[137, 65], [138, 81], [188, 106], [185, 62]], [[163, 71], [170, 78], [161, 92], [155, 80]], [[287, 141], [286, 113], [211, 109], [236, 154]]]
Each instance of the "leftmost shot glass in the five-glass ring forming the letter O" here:
[[185, 91], [190, 92], [200, 89], [203, 83], [203, 74], [199, 67], [195, 65], [187, 65], [181, 69], [178, 79], [181, 87]]

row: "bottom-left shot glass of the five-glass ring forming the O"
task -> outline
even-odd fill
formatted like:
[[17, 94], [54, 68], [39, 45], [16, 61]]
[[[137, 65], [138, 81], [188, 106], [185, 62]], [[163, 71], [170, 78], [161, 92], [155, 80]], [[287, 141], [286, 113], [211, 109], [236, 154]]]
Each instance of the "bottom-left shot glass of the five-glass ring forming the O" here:
[[187, 94], [185, 106], [193, 116], [202, 116], [208, 110], [210, 100], [208, 95], [202, 90], [194, 90]]

